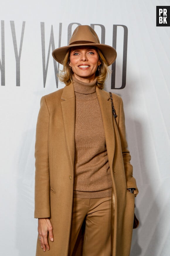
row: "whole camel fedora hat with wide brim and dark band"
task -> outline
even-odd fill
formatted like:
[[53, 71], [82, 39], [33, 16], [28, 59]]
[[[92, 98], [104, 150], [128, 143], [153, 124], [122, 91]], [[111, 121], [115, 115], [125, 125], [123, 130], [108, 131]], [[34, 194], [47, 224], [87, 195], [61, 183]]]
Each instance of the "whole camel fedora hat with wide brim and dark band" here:
[[69, 45], [63, 46], [52, 51], [53, 58], [62, 64], [64, 57], [71, 47], [74, 46], [95, 46], [101, 50], [103, 56], [106, 59], [107, 65], [110, 66], [116, 59], [116, 50], [106, 44], [100, 44], [98, 36], [94, 29], [87, 25], [77, 26], [74, 30], [72, 37], [69, 41]]

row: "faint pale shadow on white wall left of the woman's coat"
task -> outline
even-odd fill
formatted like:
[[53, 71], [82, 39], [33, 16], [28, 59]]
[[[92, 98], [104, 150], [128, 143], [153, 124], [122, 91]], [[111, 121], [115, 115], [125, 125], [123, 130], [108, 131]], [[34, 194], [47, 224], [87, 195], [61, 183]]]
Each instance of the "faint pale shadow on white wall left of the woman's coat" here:
[[18, 157], [16, 247], [19, 256], [35, 255], [37, 220], [34, 219], [35, 130], [23, 134]]

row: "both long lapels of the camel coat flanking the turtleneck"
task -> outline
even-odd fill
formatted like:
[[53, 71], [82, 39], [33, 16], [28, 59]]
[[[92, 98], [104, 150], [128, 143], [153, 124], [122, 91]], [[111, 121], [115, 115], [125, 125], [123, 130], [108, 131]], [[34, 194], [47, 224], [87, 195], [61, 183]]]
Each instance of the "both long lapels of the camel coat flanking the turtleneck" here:
[[[96, 94], [101, 109], [103, 127], [105, 132], [106, 147], [108, 153], [109, 166], [112, 168], [115, 152], [115, 137], [113, 129], [113, 114], [110, 102], [110, 95], [96, 87]], [[75, 154], [75, 93], [71, 83], [65, 86], [61, 96], [62, 116], [64, 121], [64, 131], [67, 141], [68, 152], [74, 173], [74, 154]]]

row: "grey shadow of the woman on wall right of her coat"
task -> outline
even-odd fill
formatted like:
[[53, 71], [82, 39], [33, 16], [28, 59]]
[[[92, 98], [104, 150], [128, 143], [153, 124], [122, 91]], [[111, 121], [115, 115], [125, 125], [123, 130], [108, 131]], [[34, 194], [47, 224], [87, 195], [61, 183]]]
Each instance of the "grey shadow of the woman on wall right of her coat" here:
[[[139, 92], [135, 92], [135, 81], [129, 85], [130, 89], [127, 90], [128, 84], [126, 85], [126, 96], [124, 100], [124, 108], [130, 104], [132, 97], [140, 97]], [[130, 91], [133, 93], [130, 93]], [[142, 107], [142, 106], [141, 106]], [[134, 148], [132, 148], [132, 159], [135, 159], [134, 177], [137, 180], [137, 186], [139, 194], [135, 198], [135, 214], [140, 221], [140, 226], [133, 230], [132, 235], [132, 246], [130, 256], [159, 256], [158, 246], [160, 241], [159, 230], [154, 232], [154, 226], [157, 222], [157, 214], [160, 209], [157, 204], [157, 198], [155, 191], [152, 189], [153, 181], [149, 178], [149, 173], [154, 174], [154, 170], [150, 170], [147, 166], [145, 159], [146, 145], [144, 144], [144, 131], [146, 127], [142, 120], [132, 120], [130, 114], [126, 113], [126, 128], [128, 133], [134, 142]], [[129, 136], [128, 136], [129, 137]], [[132, 152], [132, 150], [130, 150]], [[139, 168], [137, 168], [139, 166]], [[154, 234], [154, 240], [152, 235]]]

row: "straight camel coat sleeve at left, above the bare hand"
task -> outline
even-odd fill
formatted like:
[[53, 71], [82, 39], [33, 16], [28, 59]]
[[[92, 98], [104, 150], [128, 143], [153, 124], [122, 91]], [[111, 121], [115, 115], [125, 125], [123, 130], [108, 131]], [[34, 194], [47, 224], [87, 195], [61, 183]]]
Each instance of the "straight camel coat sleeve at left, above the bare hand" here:
[[35, 218], [50, 217], [50, 174], [48, 126], [50, 113], [45, 97], [41, 98], [35, 139]]

